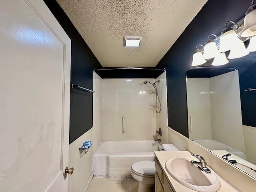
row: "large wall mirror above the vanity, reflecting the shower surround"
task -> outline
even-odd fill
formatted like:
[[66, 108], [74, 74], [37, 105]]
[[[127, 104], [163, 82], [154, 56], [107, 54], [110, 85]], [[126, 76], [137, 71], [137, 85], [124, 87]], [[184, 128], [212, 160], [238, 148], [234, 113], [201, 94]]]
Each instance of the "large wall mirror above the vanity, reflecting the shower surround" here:
[[189, 138], [256, 178], [256, 90], [250, 88], [256, 89], [255, 66], [186, 72]]

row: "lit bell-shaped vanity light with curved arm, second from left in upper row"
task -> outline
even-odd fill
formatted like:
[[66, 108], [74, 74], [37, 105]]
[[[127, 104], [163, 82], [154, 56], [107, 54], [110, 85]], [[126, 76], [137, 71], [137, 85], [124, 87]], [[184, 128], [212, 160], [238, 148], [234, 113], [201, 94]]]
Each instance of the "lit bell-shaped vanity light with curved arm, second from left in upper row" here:
[[210, 34], [208, 36], [208, 40], [205, 42], [204, 46], [204, 59], [211, 59], [220, 54], [216, 46], [216, 43], [214, 42], [214, 39], [211, 39], [210, 36], [214, 36], [216, 39], [218, 39], [218, 37], [214, 34]]

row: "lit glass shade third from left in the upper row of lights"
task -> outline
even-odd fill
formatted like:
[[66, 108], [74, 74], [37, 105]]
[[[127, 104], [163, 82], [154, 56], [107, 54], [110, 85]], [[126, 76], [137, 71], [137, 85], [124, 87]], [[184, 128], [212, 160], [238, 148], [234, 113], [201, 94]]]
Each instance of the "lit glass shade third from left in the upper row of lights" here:
[[226, 52], [231, 50], [234, 47], [234, 44], [240, 41], [236, 36], [236, 32], [234, 30], [230, 30], [225, 32], [220, 36], [220, 52]]

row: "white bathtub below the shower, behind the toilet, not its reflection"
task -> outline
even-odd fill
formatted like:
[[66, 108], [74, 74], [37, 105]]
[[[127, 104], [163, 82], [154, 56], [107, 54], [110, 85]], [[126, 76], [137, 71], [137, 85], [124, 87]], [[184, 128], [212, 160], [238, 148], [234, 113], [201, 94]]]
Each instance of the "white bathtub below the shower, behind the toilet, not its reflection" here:
[[154, 160], [154, 151], [161, 149], [153, 140], [103, 141], [93, 155], [94, 176], [130, 176], [132, 164]]

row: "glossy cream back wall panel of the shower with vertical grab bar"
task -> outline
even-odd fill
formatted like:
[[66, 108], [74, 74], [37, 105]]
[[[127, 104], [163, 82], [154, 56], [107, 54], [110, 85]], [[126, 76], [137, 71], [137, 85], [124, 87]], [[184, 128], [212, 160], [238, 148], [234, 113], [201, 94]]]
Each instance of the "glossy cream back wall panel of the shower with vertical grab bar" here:
[[[103, 140], [153, 140], [156, 112], [151, 110], [154, 78], [103, 79]], [[125, 133], [122, 133], [124, 116]]]

